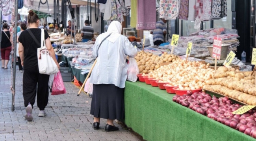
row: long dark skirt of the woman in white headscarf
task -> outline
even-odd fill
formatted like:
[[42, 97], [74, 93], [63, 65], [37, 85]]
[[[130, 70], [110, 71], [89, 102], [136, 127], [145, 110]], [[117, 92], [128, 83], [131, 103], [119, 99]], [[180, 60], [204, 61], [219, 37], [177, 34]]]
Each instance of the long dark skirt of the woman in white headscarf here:
[[124, 88], [93, 84], [91, 114], [104, 119], [124, 119]]

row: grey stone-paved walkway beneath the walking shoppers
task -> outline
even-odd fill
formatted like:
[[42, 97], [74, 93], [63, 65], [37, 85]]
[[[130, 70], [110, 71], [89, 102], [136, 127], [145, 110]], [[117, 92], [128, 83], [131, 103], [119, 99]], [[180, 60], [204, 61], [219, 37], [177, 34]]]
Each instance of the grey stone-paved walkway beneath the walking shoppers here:
[[65, 82], [67, 94], [49, 96], [45, 117], [37, 116], [39, 108], [35, 103], [33, 121], [26, 121], [22, 75], [16, 73], [15, 111], [12, 112], [11, 69], [0, 69], [0, 141], [143, 141], [123, 124], [114, 123], [119, 131], [105, 132], [106, 119], [101, 120], [99, 130], [94, 130], [91, 98], [84, 93], [76, 96], [79, 89], [70, 82]]

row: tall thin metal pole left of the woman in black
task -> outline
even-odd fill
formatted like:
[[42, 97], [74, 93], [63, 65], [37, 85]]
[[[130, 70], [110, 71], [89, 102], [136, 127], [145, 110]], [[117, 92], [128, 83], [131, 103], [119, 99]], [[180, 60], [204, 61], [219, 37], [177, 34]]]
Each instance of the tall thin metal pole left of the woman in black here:
[[16, 80], [16, 51], [17, 51], [17, 21], [18, 21], [18, 0], [15, 0], [15, 28], [14, 28], [14, 41], [13, 41], [13, 85], [12, 85], [12, 100], [11, 111], [14, 111], [15, 101], [15, 80]]

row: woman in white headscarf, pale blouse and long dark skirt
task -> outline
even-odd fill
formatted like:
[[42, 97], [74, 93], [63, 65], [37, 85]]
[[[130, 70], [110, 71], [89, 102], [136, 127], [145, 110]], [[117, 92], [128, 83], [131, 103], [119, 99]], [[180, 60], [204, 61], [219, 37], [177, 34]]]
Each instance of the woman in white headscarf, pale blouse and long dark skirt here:
[[[93, 128], [99, 129], [100, 118], [108, 119], [105, 131], [119, 130], [115, 119], [124, 119], [124, 83], [127, 78], [127, 56], [133, 58], [137, 49], [126, 36], [121, 35], [122, 25], [113, 21], [106, 33], [100, 34], [93, 46], [97, 58], [90, 83], [93, 83], [91, 114]], [[104, 40], [105, 39], [105, 40]]]

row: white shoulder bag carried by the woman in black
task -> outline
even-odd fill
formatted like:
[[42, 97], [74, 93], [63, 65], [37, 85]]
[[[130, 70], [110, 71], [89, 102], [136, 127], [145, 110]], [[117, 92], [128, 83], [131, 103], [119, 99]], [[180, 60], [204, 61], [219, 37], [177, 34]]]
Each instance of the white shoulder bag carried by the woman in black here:
[[[28, 31], [29, 33], [31, 33], [30, 29], [28, 29]], [[37, 40], [35, 40], [35, 42], [36, 41]], [[56, 74], [59, 71], [58, 66], [56, 65], [53, 58], [50, 56], [48, 49], [46, 48], [44, 29], [41, 29], [41, 48], [37, 49], [37, 60], [39, 73], [50, 75]]]

